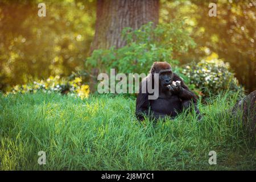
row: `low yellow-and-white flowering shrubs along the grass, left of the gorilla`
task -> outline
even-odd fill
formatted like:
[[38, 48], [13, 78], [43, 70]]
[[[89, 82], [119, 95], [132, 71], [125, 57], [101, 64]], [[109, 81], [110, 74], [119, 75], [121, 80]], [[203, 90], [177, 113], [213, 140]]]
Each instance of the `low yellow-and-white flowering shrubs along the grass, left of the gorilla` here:
[[47, 80], [38, 80], [24, 85], [16, 85], [11, 92], [8, 93], [36, 93], [39, 90], [42, 92], [59, 92], [62, 94], [76, 94], [80, 98], [89, 96], [89, 85], [82, 84], [81, 77], [75, 77], [73, 80], [60, 78], [60, 76], [50, 76]]

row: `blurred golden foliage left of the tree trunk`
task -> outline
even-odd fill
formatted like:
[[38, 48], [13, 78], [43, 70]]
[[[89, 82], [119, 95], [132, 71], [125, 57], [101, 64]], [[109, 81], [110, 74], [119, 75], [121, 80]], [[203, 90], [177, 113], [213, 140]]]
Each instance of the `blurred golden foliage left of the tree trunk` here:
[[0, 90], [84, 69], [94, 35], [94, 1], [0, 2]]

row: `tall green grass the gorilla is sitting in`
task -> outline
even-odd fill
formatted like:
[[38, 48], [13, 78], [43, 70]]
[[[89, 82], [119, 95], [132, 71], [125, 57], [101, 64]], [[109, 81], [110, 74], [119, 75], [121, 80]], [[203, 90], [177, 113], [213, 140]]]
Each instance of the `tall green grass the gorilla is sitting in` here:
[[[236, 100], [236, 93], [210, 98], [199, 106], [201, 122], [183, 113], [153, 126], [137, 121], [133, 98], [0, 95], [0, 169], [255, 170], [255, 138], [226, 111]], [[210, 166], [212, 150], [217, 165]]]

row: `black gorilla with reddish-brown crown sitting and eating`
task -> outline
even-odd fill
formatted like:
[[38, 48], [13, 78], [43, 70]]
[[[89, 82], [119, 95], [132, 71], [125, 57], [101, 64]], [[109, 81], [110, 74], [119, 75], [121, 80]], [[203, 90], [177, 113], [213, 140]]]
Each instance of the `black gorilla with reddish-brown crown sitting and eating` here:
[[[194, 105], [198, 118], [200, 119], [200, 111], [197, 109], [196, 95], [188, 89], [183, 80], [172, 72], [171, 65], [166, 62], [155, 62], [150, 73], [144, 78], [140, 84], [139, 94], [136, 102], [136, 116], [139, 120], [144, 119], [144, 115], [151, 119], [165, 118], [166, 116], [175, 117], [183, 109], [191, 108]], [[159, 74], [159, 97], [156, 100], [148, 100], [148, 90], [142, 93], [142, 86], [147, 85], [147, 79], [152, 80], [154, 88], [154, 74]], [[172, 81], [176, 82], [176, 86], [172, 85]], [[146, 84], [142, 84], [146, 82]]]

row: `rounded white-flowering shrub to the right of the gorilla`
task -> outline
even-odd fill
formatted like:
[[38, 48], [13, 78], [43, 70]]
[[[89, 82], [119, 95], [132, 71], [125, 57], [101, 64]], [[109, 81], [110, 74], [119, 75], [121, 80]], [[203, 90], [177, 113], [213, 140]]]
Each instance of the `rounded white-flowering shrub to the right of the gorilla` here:
[[229, 64], [220, 59], [191, 63], [183, 69], [183, 74], [189, 78], [189, 84], [201, 89], [205, 96], [209, 96], [209, 91], [217, 94], [222, 90], [242, 90]]

